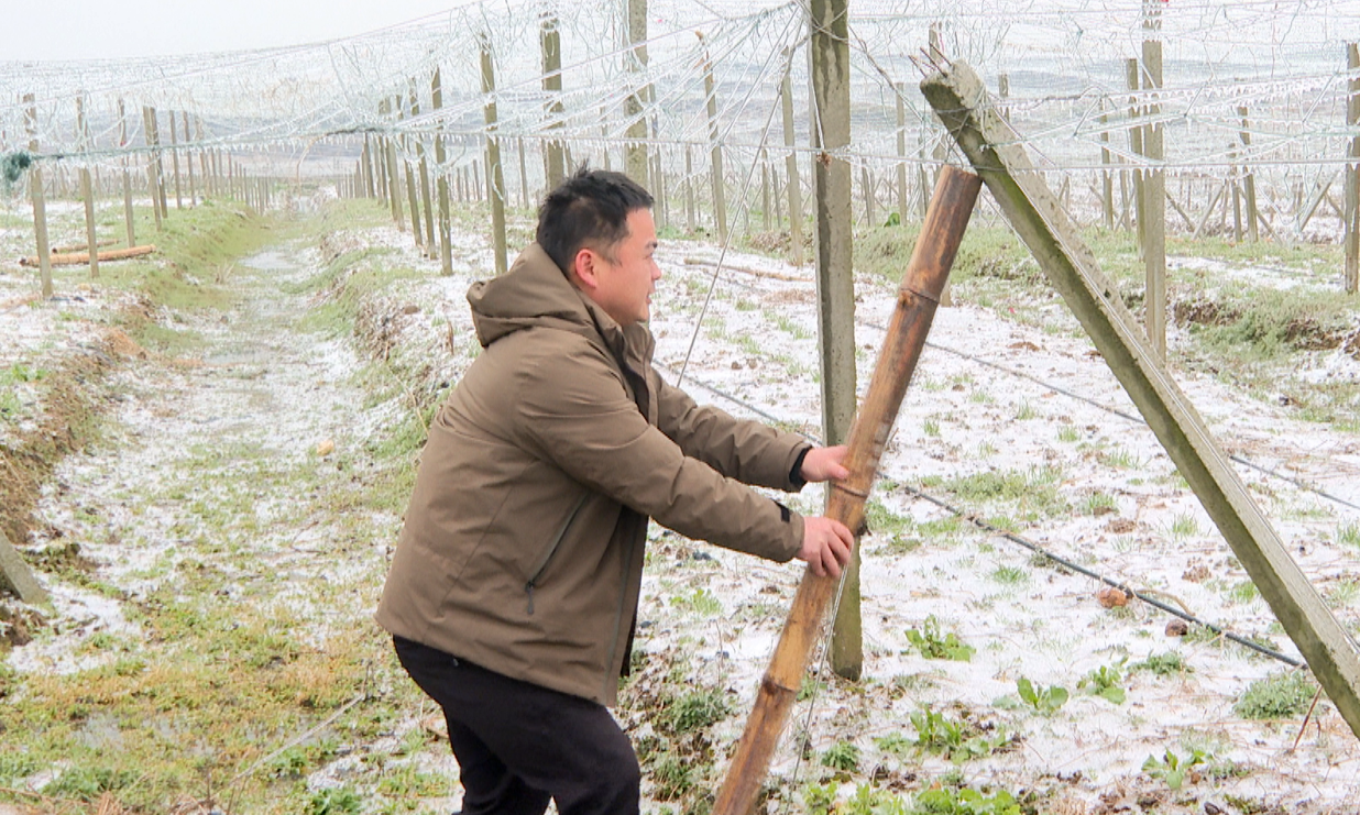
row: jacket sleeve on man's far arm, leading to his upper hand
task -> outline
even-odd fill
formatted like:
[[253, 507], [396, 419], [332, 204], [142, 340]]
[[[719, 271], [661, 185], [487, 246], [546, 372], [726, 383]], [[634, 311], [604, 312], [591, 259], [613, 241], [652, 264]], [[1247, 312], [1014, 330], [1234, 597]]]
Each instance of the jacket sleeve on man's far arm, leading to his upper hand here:
[[657, 427], [685, 455], [743, 484], [785, 492], [802, 489], [802, 478], [792, 478], [793, 466], [812, 446], [801, 436], [699, 405], [690, 394], [666, 384], [656, 369], [649, 371], [649, 382], [657, 394]]

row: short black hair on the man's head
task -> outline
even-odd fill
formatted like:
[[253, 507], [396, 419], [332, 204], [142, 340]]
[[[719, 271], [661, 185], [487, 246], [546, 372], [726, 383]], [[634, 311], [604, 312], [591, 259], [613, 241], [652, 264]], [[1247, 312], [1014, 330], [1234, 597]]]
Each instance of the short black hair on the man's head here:
[[543, 200], [534, 239], [570, 273], [577, 253], [585, 247], [608, 257], [628, 236], [628, 213], [649, 209], [653, 201], [651, 193], [623, 173], [581, 164]]

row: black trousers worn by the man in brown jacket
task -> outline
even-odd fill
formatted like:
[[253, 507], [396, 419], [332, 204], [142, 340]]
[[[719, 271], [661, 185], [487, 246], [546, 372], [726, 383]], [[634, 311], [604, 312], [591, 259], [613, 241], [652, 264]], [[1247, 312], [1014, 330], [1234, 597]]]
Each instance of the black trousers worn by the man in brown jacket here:
[[393, 637], [397, 659], [443, 708], [462, 773], [462, 815], [635, 815], [641, 773], [602, 705]]

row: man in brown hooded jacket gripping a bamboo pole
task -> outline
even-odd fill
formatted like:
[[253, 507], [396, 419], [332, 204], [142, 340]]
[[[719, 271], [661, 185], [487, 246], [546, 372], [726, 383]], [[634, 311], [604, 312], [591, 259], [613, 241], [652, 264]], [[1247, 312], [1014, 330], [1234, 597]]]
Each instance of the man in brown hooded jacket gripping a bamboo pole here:
[[700, 408], [651, 368], [651, 196], [581, 168], [536, 243], [468, 292], [486, 348], [430, 428], [378, 606], [449, 723], [465, 815], [638, 811], [607, 705], [628, 664], [649, 518], [839, 575], [853, 538], [744, 484], [845, 478], [843, 447]]

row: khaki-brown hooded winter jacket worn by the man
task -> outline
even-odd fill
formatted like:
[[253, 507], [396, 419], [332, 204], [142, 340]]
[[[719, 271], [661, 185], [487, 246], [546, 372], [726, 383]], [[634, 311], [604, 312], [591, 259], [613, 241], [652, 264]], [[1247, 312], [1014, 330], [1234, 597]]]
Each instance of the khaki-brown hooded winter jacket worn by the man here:
[[486, 350], [430, 427], [377, 619], [484, 668], [612, 705], [647, 519], [775, 561], [808, 447], [698, 406], [537, 244], [468, 292]]

